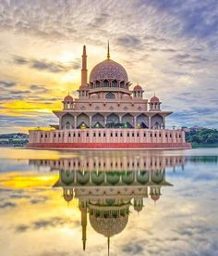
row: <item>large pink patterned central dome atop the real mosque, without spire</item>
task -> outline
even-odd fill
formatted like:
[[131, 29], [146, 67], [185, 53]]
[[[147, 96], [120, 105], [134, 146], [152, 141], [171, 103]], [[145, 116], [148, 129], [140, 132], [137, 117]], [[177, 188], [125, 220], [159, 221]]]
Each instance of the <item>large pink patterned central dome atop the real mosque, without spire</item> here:
[[97, 64], [90, 74], [90, 81], [103, 81], [104, 79], [111, 79], [117, 81], [128, 82], [127, 71], [119, 63], [112, 59], [105, 59]]

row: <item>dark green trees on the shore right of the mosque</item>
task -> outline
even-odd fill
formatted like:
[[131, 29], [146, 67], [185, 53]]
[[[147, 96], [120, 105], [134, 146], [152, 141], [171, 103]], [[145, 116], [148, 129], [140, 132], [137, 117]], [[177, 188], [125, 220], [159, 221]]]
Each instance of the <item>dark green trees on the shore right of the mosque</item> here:
[[218, 144], [218, 131], [216, 129], [201, 128], [198, 131], [186, 133], [188, 142], [195, 144]]

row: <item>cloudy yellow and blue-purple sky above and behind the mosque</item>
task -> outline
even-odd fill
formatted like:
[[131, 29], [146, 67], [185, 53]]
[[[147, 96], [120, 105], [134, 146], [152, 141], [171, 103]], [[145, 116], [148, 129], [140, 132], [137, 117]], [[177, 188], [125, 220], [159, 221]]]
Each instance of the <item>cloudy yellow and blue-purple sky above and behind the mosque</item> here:
[[111, 58], [155, 93], [172, 126], [218, 128], [216, 0], [0, 1], [0, 134], [57, 123], [88, 69]]

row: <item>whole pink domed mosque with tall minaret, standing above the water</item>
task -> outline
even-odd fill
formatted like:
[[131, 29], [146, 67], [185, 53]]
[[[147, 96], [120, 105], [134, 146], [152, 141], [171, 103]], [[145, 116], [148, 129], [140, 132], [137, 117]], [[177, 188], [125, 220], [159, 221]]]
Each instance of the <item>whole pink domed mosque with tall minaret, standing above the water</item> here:
[[139, 84], [130, 88], [127, 71], [110, 58], [97, 64], [88, 83], [83, 46], [79, 98], [67, 95], [54, 111], [58, 125], [30, 131], [28, 147], [43, 148], [189, 148], [185, 132], [165, 129], [172, 111], [161, 110], [157, 96], [144, 99]]

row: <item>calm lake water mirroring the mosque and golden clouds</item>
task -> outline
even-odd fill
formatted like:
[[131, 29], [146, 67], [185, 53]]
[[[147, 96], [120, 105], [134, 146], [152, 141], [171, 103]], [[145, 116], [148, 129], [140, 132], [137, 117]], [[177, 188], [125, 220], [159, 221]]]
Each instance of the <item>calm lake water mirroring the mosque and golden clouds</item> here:
[[0, 149], [0, 255], [218, 255], [218, 148]]

